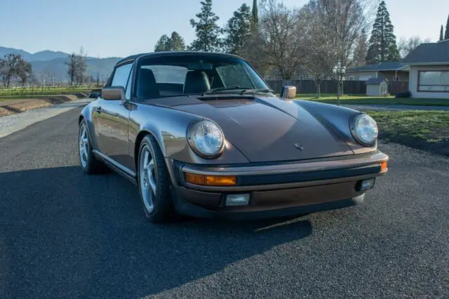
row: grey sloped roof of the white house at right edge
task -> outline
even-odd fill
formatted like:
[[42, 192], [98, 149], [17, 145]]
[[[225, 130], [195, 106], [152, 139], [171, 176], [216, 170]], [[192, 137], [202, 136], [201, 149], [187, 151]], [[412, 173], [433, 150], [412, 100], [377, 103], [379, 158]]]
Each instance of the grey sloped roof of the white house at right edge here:
[[449, 39], [438, 43], [420, 44], [402, 60], [408, 64], [441, 64], [449, 65]]

